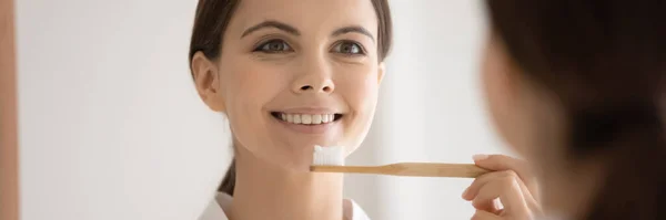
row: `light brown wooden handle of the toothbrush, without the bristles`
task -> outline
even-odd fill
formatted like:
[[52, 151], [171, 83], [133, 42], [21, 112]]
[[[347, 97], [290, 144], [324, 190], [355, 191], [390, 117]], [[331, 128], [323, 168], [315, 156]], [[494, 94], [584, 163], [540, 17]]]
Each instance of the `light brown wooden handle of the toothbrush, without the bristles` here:
[[316, 172], [351, 172], [374, 174], [408, 177], [454, 177], [476, 178], [490, 172], [472, 164], [434, 164], [434, 163], [400, 163], [376, 167], [362, 166], [312, 166], [311, 171]]

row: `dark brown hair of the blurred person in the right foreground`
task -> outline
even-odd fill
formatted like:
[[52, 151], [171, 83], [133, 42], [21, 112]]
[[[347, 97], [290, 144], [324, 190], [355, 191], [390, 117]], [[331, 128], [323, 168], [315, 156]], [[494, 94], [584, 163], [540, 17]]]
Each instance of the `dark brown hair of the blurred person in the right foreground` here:
[[[524, 78], [557, 96], [567, 157], [603, 158], [585, 219], [666, 219], [662, 122], [666, 3], [487, 0], [493, 33]], [[596, 157], [603, 156], [603, 157]]]

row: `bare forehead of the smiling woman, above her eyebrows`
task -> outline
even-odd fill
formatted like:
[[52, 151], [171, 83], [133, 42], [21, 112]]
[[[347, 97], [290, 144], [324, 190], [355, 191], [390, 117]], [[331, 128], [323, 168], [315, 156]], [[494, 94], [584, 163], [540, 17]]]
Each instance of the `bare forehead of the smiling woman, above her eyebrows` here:
[[371, 0], [241, 0], [229, 31], [242, 32], [266, 20], [287, 23], [304, 34], [361, 25], [376, 36], [377, 19]]

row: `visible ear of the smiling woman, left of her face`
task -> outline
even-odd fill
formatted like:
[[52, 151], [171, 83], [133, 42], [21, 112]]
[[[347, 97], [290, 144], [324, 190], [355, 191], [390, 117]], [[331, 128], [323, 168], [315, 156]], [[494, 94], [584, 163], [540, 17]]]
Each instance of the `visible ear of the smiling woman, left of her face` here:
[[220, 87], [220, 74], [214, 62], [199, 51], [192, 56], [192, 77], [201, 99], [215, 112], [224, 112], [224, 96]]

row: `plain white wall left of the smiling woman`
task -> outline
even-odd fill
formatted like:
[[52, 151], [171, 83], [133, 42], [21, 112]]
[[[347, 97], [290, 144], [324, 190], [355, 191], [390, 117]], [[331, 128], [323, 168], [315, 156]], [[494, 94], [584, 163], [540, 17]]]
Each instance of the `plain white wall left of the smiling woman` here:
[[23, 220], [196, 219], [228, 165], [195, 1], [17, 1]]

